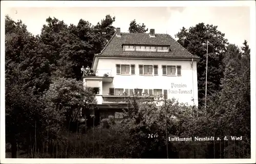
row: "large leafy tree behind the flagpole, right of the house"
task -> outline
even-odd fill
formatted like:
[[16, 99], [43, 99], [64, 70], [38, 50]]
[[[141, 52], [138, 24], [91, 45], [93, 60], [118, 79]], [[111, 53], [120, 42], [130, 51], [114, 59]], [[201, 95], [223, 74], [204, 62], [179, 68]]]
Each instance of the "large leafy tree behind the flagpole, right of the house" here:
[[191, 54], [201, 57], [197, 64], [199, 105], [204, 105], [206, 77], [206, 49], [208, 40], [207, 95], [220, 90], [220, 79], [223, 77], [222, 62], [226, 51], [225, 34], [217, 30], [218, 26], [197, 24], [188, 30], [184, 27], [175, 37]]

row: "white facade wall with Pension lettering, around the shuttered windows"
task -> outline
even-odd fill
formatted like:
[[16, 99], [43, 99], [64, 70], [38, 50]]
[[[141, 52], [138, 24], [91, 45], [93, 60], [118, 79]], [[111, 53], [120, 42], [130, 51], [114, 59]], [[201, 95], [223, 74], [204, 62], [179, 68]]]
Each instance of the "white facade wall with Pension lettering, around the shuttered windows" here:
[[[114, 77], [112, 83], [102, 82], [102, 95], [108, 95], [109, 88], [167, 89], [168, 99], [175, 98], [180, 103], [198, 106], [197, 63], [193, 62], [193, 68], [191, 63], [191, 60], [99, 58], [96, 69], [112, 69], [111, 76]], [[117, 75], [116, 64], [135, 64], [135, 75]], [[158, 65], [158, 75], [139, 75], [139, 64]], [[181, 76], [163, 76], [162, 65], [181, 65]]]

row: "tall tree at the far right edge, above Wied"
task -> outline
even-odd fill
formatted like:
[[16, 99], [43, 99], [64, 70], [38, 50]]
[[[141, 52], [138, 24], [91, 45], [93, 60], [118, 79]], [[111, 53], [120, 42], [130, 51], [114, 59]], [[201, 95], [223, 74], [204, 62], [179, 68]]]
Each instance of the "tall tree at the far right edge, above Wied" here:
[[[238, 122], [244, 123], [236, 127], [231, 126], [232, 132], [241, 132], [241, 135], [250, 136], [250, 50], [246, 42], [242, 50], [235, 45], [231, 45], [235, 49], [228, 47], [227, 53], [233, 51], [233, 57], [227, 63], [224, 72], [224, 78], [221, 80], [221, 102], [225, 104], [226, 110], [233, 113], [232, 116], [236, 117], [236, 124]], [[232, 105], [231, 105], [232, 104]], [[242, 126], [242, 127], [241, 127]]]

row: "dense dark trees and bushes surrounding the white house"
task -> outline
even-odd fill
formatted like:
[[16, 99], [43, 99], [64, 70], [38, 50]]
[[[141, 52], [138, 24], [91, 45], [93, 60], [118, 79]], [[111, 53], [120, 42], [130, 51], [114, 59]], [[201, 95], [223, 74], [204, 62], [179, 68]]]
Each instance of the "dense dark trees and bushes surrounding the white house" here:
[[[80, 19], [66, 25], [47, 18], [41, 34], [33, 36], [21, 20], [6, 16], [6, 142], [11, 157], [103, 158], [249, 158], [250, 49], [228, 44], [216, 26], [200, 23], [176, 35], [189, 52], [200, 56], [200, 106], [176, 100], [127, 99], [124, 119], [113, 116], [93, 126], [93, 118], [78, 120], [80, 111], [95, 106], [92, 90], [80, 81], [82, 65], [91, 65], [115, 32], [115, 17], [106, 15], [93, 26]], [[131, 21], [129, 31], [145, 33]], [[204, 108], [206, 45], [208, 97]], [[202, 107], [201, 107], [202, 106]], [[84, 124], [85, 122], [85, 124]], [[241, 142], [167, 142], [170, 137], [243, 136]], [[153, 137], [148, 137], [148, 134]], [[153, 134], [153, 135], [151, 135]], [[7, 147], [8, 150], [8, 147]]]

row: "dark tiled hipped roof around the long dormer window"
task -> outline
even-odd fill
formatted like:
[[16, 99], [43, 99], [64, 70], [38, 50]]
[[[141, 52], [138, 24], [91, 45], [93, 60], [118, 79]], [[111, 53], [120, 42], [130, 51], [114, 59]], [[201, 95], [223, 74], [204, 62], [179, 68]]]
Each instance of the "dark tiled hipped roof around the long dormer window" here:
[[[156, 37], [150, 37], [149, 33], [121, 33], [120, 36], [114, 36], [106, 44], [100, 56], [118, 56], [118, 57], [146, 57], [146, 58], [192, 58], [182, 45], [180, 45], [172, 36], [168, 34], [155, 34]], [[143, 51], [124, 51], [123, 44], [132, 45], [169, 45], [169, 52], [143, 52]], [[96, 55], [96, 56], [97, 56]], [[194, 56], [199, 58], [198, 56]]]

